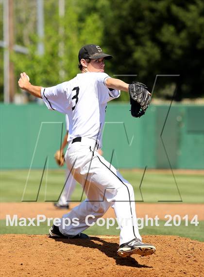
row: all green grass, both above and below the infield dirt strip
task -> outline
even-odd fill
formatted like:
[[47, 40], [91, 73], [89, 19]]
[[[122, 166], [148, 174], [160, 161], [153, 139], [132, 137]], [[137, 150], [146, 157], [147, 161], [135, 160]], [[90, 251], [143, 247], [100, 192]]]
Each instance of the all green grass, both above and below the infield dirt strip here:
[[[204, 176], [201, 174], [179, 174], [174, 173], [180, 195], [177, 190], [174, 178], [171, 173], [162, 171], [146, 171], [140, 187], [142, 171], [121, 170], [120, 173], [134, 187], [136, 201], [146, 203], [157, 203], [158, 201], [176, 202], [180, 201], [180, 195], [184, 203], [204, 203]], [[26, 180], [28, 170], [4, 170], [0, 173], [0, 202], [21, 202], [23, 192], [24, 201], [35, 201], [37, 193], [38, 202], [56, 201], [64, 185], [64, 169], [49, 170], [42, 178], [42, 170], [32, 170], [27, 186]], [[42, 184], [39, 189], [40, 180]], [[140, 193], [141, 191], [141, 193]], [[79, 202], [85, 199], [83, 190], [79, 184], [72, 195], [72, 201]], [[1, 234], [48, 234], [49, 226], [41, 223], [40, 226], [6, 226], [5, 220], [0, 221]], [[164, 226], [165, 222], [160, 221], [160, 226], [145, 226], [140, 230], [143, 234], [156, 235], [178, 235], [193, 240], [204, 241], [204, 221], [198, 226], [181, 222], [180, 226]], [[105, 226], [89, 227], [85, 233], [89, 235], [119, 235], [119, 230], [114, 226], [107, 229]]]

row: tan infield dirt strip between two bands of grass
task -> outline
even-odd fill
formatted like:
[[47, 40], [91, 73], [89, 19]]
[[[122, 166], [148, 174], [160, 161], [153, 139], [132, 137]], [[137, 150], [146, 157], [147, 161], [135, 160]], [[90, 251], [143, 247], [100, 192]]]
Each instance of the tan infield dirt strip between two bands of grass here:
[[[70, 208], [74, 208], [79, 203], [70, 203]], [[37, 215], [45, 215], [46, 217], [61, 218], [63, 214], [67, 213], [66, 209], [56, 209], [53, 203], [47, 202], [5, 202], [0, 203], [0, 219], [5, 219], [6, 215], [17, 215], [20, 217], [36, 217]], [[198, 215], [199, 220], [204, 220], [204, 205], [201, 203], [136, 203], [137, 217], [149, 217], [154, 218], [156, 215], [160, 220], [165, 218], [165, 215], [170, 214], [174, 216], [179, 214], [180, 217], [184, 217], [186, 214], [189, 219], [192, 219], [194, 215]], [[115, 213], [112, 208], [104, 214], [103, 218], [115, 218]]]

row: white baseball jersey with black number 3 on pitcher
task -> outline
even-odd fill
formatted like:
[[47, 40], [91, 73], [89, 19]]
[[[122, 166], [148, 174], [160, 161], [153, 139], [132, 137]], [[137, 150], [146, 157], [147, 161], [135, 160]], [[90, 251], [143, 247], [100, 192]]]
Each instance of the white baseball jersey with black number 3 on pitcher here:
[[42, 98], [50, 110], [68, 114], [68, 141], [76, 137], [93, 138], [102, 147], [102, 128], [107, 102], [119, 97], [105, 85], [106, 73], [87, 72], [51, 88], [42, 88]]

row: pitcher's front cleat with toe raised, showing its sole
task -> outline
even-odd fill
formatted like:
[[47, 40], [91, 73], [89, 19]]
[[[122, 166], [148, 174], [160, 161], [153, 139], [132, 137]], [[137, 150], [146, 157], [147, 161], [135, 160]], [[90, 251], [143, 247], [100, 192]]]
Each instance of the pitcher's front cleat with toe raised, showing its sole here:
[[153, 245], [143, 243], [139, 239], [133, 239], [119, 245], [119, 250], [117, 251], [117, 253], [120, 257], [125, 258], [133, 254], [148, 256], [152, 255], [155, 251], [156, 248]]

